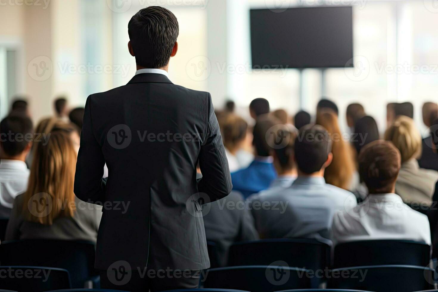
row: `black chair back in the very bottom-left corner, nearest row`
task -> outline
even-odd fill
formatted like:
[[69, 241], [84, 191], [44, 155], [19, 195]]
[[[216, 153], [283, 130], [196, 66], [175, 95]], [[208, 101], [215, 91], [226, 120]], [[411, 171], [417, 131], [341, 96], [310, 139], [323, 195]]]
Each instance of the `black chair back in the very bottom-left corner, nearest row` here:
[[52, 267], [0, 266], [0, 287], [17, 292], [44, 292], [71, 288], [65, 269]]

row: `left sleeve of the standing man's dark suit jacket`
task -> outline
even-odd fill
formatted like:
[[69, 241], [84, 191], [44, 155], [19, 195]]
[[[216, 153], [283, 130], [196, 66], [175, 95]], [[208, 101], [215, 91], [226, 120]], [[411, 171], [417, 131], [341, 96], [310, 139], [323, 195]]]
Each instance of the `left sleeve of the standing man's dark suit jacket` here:
[[91, 111], [88, 96], [81, 132], [81, 147], [76, 162], [74, 194], [82, 201], [102, 204], [105, 201], [105, 182], [102, 180], [105, 158], [93, 132]]

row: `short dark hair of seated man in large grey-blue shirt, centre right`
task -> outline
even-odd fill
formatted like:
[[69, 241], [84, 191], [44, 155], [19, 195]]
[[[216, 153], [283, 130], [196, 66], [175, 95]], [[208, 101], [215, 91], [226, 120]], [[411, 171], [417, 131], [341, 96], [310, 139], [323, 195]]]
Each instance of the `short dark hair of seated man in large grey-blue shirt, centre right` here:
[[329, 133], [320, 125], [306, 125], [295, 138], [294, 147], [298, 169], [307, 174], [317, 172], [329, 158]]

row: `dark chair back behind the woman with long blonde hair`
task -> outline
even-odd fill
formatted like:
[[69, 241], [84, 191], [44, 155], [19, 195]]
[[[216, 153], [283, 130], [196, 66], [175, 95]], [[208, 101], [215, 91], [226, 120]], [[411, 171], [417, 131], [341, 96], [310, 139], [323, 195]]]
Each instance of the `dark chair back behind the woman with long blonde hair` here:
[[0, 264], [66, 269], [74, 288], [84, 288], [85, 281], [97, 275], [94, 258], [94, 243], [85, 241], [25, 239], [0, 244]]

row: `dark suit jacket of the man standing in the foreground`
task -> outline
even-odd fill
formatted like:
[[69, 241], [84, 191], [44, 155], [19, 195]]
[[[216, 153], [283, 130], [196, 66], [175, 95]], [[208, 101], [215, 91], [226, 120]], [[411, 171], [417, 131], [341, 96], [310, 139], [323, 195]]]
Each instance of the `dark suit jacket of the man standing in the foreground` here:
[[[204, 174], [199, 182], [198, 161]], [[88, 97], [74, 193], [103, 204], [96, 268], [120, 260], [132, 269], [208, 268], [201, 204], [231, 189], [208, 92], [144, 73]]]

